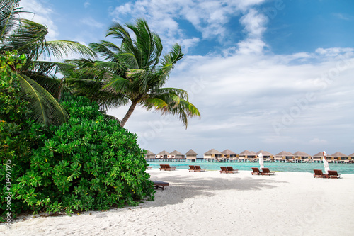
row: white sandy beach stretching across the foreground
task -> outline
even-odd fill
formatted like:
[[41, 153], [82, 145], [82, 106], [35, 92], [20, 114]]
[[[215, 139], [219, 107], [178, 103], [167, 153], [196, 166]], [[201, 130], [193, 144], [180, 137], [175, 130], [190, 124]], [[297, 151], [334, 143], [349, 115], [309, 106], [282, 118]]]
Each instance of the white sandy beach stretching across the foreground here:
[[137, 207], [17, 220], [0, 235], [354, 235], [354, 175], [148, 170], [170, 186]]

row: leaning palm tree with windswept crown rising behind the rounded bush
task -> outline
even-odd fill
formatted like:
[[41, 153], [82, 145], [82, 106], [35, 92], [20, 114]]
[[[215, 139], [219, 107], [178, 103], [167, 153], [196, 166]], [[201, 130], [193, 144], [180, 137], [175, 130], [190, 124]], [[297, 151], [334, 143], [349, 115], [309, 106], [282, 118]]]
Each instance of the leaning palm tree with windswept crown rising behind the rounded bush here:
[[163, 88], [173, 66], [183, 58], [181, 46], [173, 45], [171, 52], [162, 55], [159, 35], [152, 32], [143, 19], [125, 24], [128, 30], [115, 23], [106, 35], [122, 40], [120, 46], [109, 41], [89, 46], [103, 61], [69, 60], [76, 69], [67, 73], [67, 82], [79, 94], [86, 94], [105, 108], [130, 104], [122, 118], [123, 127], [137, 106], [173, 114], [187, 128], [188, 118], [200, 116], [198, 108], [188, 101], [183, 89]]

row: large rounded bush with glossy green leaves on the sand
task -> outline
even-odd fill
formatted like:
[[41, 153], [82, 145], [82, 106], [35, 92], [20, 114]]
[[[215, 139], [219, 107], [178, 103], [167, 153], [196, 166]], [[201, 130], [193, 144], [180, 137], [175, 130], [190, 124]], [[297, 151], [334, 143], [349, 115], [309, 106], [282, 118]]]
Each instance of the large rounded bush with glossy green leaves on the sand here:
[[[30, 157], [12, 166], [13, 213], [71, 214], [152, 200], [154, 189], [136, 135], [105, 118], [96, 103], [83, 97], [65, 95], [62, 106], [70, 115], [67, 123], [28, 124], [28, 137], [36, 138], [31, 145], [37, 146]], [[5, 189], [1, 191], [4, 211]]]

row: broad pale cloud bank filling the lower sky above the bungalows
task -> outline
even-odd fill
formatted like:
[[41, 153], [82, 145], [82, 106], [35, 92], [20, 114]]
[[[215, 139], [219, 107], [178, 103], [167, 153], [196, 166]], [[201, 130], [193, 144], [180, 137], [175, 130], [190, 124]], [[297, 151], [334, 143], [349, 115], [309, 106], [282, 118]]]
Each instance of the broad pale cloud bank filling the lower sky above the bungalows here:
[[[307, 57], [312, 58], [311, 62], [294, 63]], [[165, 116], [160, 118], [159, 114], [144, 113], [142, 109], [138, 116], [132, 114], [126, 127], [144, 139], [142, 147], [152, 150], [174, 150], [180, 145], [188, 146], [188, 142], [192, 144], [188, 147], [197, 152], [213, 147], [234, 152], [256, 148], [253, 151], [262, 149], [275, 154], [301, 149], [315, 154], [324, 145], [342, 150], [341, 145], [351, 145], [352, 139], [339, 142], [338, 136], [354, 130], [349, 115], [354, 106], [354, 57], [347, 60], [348, 66], [323, 86], [316, 79], [325, 82], [322, 74], [336, 68], [336, 57], [315, 52], [245, 56], [234, 51], [224, 57], [187, 56], [176, 65], [166, 86], [188, 91], [190, 101], [200, 108], [201, 120], [191, 119], [188, 130], [184, 130], [177, 118], [171, 118], [173, 122], [148, 142], [147, 128], [142, 125], [139, 129], [137, 125], [142, 120], [164, 120]], [[274, 123], [280, 125], [278, 133]], [[169, 140], [171, 133], [173, 140], [181, 143], [176, 145]], [[196, 144], [195, 137], [203, 145]], [[198, 150], [199, 146], [204, 150]]]

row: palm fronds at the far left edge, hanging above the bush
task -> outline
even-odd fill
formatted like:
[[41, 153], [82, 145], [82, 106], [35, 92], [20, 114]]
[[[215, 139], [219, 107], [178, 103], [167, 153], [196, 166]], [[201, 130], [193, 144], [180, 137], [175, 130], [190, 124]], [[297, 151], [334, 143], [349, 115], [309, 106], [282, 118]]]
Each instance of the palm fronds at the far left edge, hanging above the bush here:
[[59, 125], [67, 120], [67, 113], [57, 101], [62, 91], [62, 80], [57, 79], [55, 74], [72, 66], [39, 59], [60, 59], [69, 53], [94, 57], [95, 53], [73, 41], [46, 41], [46, 26], [19, 18], [22, 11], [19, 2], [0, 1], [0, 54], [9, 51], [25, 55], [25, 64], [16, 72], [26, 98], [30, 101], [30, 116], [39, 123]]

